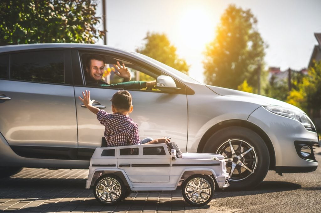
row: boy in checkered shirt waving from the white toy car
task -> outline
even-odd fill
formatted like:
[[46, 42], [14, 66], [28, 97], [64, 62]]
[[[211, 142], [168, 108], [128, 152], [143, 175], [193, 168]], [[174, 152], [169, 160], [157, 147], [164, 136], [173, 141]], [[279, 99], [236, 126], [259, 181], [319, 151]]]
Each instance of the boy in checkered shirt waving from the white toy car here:
[[82, 92], [83, 98], [78, 97], [83, 104], [97, 115], [99, 122], [105, 126], [104, 136], [107, 146], [127, 146], [136, 144], [159, 144], [168, 143], [169, 138], [145, 138], [141, 140], [138, 134], [138, 125], [128, 116], [133, 111], [132, 96], [126, 90], [117, 91], [112, 99], [111, 109], [113, 114], [107, 113], [92, 103], [90, 91]]

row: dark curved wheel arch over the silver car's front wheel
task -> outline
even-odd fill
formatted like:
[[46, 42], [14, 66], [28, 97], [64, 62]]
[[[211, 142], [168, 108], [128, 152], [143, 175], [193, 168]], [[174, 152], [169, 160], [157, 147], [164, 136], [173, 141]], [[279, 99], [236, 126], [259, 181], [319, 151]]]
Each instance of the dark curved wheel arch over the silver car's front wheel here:
[[269, 170], [275, 170], [275, 152], [274, 152], [274, 147], [272, 144], [271, 139], [268, 137], [268, 135], [265, 133], [264, 130], [262, 130], [260, 127], [257, 125], [244, 121], [244, 120], [227, 120], [223, 122], [219, 122], [215, 125], [213, 125], [211, 128], [209, 128], [203, 137], [201, 138], [198, 147], [197, 147], [197, 152], [201, 153], [207, 140], [217, 131], [227, 128], [227, 127], [234, 127], [234, 126], [239, 126], [239, 127], [245, 127], [250, 130], [253, 130], [256, 132], [265, 142], [265, 145], [267, 146], [269, 150], [269, 155], [270, 155], [270, 168]]

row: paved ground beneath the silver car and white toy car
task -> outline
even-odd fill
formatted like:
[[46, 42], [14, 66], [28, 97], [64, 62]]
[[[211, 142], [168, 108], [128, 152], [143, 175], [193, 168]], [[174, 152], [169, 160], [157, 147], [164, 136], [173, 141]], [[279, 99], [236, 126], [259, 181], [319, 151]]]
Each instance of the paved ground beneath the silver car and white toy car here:
[[[321, 161], [321, 148], [316, 148]], [[162, 193], [132, 193], [117, 206], [101, 206], [85, 189], [87, 170], [23, 169], [0, 179], [0, 211], [17, 212], [321, 212], [321, 166], [312, 173], [269, 171], [256, 189], [216, 190], [204, 207], [183, 201], [180, 189]]]

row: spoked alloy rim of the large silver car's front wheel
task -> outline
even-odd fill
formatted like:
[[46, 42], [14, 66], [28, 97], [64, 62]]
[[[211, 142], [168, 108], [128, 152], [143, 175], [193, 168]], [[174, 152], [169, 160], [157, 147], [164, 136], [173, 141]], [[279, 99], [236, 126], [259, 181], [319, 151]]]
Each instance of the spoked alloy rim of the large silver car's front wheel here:
[[229, 139], [222, 143], [216, 153], [225, 157], [230, 181], [244, 180], [253, 174], [256, 169], [256, 150], [244, 140]]

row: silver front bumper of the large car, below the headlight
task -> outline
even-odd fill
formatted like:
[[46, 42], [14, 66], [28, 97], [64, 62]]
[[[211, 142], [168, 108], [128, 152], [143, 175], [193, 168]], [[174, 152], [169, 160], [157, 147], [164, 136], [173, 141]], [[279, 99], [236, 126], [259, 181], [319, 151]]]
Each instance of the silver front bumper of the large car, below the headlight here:
[[[311, 146], [319, 144], [317, 133], [306, 130], [299, 121], [274, 114], [264, 107], [256, 109], [247, 121], [260, 127], [270, 138], [277, 170], [302, 172], [303, 169], [299, 168], [306, 167], [307, 171], [312, 171], [318, 166], [316, 160], [301, 158], [295, 148], [295, 141], [310, 143]], [[311, 154], [314, 155], [313, 152]]]

